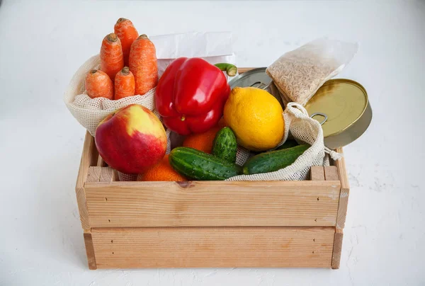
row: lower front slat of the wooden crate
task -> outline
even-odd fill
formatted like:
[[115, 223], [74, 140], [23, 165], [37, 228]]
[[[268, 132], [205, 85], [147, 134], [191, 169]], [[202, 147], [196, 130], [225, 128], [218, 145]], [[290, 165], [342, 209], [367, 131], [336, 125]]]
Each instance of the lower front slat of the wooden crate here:
[[97, 268], [330, 268], [334, 227], [92, 229]]

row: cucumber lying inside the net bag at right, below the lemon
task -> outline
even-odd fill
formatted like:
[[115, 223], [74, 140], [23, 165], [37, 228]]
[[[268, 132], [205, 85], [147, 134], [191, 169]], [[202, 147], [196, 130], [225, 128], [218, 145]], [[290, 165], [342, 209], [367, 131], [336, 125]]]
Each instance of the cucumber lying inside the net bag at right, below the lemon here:
[[245, 175], [254, 173], [268, 173], [278, 171], [293, 164], [310, 145], [299, 145], [288, 149], [270, 151], [258, 154], [244, 164], [243, 172]]

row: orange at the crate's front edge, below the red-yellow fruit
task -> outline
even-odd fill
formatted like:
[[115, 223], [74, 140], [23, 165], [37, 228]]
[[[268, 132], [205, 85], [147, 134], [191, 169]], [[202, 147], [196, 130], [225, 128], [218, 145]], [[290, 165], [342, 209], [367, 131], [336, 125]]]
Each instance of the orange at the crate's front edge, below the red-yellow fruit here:
[[159, 164], [149, 168], [145, 173], [137, 176], [137, 181], [188, 181], [186, 178], [181, 176], [179, 173], [174, 171], [169, 162], [169, 155], [165, 155], [164, 158], [159, 161]]

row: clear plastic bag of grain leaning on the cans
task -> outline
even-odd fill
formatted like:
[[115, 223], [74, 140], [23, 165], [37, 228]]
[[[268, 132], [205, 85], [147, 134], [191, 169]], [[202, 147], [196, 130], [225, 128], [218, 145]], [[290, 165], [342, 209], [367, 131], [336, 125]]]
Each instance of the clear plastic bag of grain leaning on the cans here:
[[325, 81], [344, 69], [357, 50], [357, 43], [319, 38], [286, 52], [266, 72], [284, 103], [305, 105]]

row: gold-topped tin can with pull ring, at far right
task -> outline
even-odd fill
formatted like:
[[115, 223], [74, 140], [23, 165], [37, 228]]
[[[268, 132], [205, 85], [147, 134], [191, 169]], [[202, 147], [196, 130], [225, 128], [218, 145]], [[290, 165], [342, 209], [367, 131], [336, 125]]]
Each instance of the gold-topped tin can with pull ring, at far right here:
[[310, 117], [321, 122], [324, 145], [336, 149], [350, 144], [368, 129], [372, 108], [368, 93], [350, 79], [331, 79], [305, 105]]

